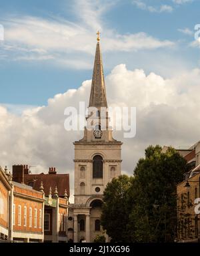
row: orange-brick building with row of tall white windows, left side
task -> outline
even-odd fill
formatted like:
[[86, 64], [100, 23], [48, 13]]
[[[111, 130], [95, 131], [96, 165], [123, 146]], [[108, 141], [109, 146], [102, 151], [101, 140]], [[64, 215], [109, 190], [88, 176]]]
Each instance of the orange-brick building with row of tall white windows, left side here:
[[[43, 242], [44, 195], [31, 186], [12, 181], [11, 241]], [[12, 199], [11, 199], [12, 200]]]

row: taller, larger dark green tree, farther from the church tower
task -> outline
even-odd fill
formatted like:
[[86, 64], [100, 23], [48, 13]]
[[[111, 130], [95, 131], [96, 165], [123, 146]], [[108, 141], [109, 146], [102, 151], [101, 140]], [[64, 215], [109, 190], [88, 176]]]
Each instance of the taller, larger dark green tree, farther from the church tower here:
[[149, 146], [137, 163], [132, 182], [131, 241], [173, 241], [177, 231], [176, 185], [187, 171], [186, 160], [173, 148]]

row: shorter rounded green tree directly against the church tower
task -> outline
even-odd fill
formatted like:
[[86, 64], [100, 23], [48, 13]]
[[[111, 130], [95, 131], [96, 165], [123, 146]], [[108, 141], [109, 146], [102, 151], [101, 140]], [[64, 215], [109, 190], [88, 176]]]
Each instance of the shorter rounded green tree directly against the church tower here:
[[127, 175], [113, 178], [103, 193], [101, 225], [114, 242], [127, 241], [127, 223], [131, 205], [129, 205], [129, 188], [131, 179]]

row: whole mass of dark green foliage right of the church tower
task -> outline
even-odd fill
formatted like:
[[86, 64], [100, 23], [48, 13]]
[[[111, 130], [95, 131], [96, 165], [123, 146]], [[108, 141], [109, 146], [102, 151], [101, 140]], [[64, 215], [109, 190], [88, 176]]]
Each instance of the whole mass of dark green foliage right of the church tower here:
[[177, 231], [176, 185], [187, 172], [174, 149], [149, 146], [134, 176], [119, 176], [104, 193], [102, 224], [114, 241], [169, 242]]

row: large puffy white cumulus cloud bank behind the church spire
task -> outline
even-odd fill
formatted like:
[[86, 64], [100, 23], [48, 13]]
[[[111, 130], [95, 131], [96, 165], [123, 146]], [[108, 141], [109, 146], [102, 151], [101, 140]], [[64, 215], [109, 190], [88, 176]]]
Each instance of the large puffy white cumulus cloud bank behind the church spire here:
[[[132, 174], [149, 144], [191, 145], [199, 140], [200, 70], [189, 70], [170, 79], [143, 70], [128, 70], [116, 66], [106, 77], [109, 106], [137, 108], [137, 134], [114, 138], [123, 142], [122, 170]], [[73, 194], [73, 142], [83, 132], [64, 129], [67, 106], [79, 109], [79, 102], [89, 100], [91, 80], [77, 90], [68, 90], [48, 100], [47, 106], [28, 108], [21, 115], [0, 107], [1, 166], [29, 164], [33, 172], [45, 172], [56, 166], [59, 172], [69, 172]]]

